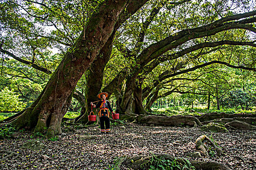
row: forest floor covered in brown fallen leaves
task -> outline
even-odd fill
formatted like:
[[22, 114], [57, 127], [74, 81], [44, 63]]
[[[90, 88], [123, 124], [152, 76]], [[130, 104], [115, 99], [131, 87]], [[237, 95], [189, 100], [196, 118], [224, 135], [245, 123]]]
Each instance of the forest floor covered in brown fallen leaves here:
[[[19, 132], [13, 139], [0, 140], [0, 159], [5, 158], [0, 161], [0, 169], [117, 170], [115, 166], [124, 155], [167, 153], [189, 160], [216, 161], [232, 170], [256, 170], [256, 130], [205, 133], [194, 127], [149, 127], [127, 123], [124, 126], [112, 125], [111, 134], [100, 134], [98, 126], [83, 127], [63, 128], [64, 133], [56, 141], [35, 137], [28, 132]], [[210, 158], [188, 157], [187, 153], [196, 151], [195, 141], [201, 135], [213, 138], [223, 154], [219, 157], [212, 154]], [[90, 138], [81, 140], [80, 136]], [[32, 139], [41, 141], [47, 148], [20, 148]], [[128, 170], [123, 165], [118, 169]]]

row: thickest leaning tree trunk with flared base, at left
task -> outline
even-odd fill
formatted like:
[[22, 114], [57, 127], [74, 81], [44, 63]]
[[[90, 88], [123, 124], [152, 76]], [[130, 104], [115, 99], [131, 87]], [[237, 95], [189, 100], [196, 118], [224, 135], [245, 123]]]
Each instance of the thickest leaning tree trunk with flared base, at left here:
[[74, 47], [64, 56], [39, 98], [13, 122], [16, 127], [27, 127], [35, 132], [48, 128], [48, 136], [61, 133], [61, 119], [70, 104], [72, 91], [112, 34], [127, 1], [108, 0], [102, 3]]

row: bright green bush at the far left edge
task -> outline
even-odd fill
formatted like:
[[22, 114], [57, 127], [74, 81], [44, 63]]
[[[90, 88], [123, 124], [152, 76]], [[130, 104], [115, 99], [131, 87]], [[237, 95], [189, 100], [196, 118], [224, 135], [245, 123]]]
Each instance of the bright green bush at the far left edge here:
[[17, 95], [14, 90], [9, 90], [7, 87], [0, 91], [0, 112], [21, 111], [26, 107], [26, 103], [21, 102], [20, 95]]

